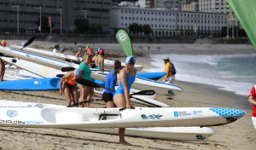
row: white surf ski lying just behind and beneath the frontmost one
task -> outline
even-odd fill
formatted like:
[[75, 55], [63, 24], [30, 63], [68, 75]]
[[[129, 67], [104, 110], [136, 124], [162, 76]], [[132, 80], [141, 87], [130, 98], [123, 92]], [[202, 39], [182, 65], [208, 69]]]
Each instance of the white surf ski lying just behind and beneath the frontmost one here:
[[[0, 100], [0, 107], [62, 107], [52, 104], [22, 102], [22, 101], [4, 101]], [[19, 115], [19, 114], [17, 114]], [[118, 130], [114, 128], [105, 129], [88, 129], [88, 128], [70, 128], [71, 130], [84, 130], [90, 132], [118, 134]], [[127, 128], [126, 136], [139, 136], [156, 139], [168, 139], [174, 141], [201, 141], [214, 135], [214, 130], [207, 127], [154, 127], [154, 128]]]

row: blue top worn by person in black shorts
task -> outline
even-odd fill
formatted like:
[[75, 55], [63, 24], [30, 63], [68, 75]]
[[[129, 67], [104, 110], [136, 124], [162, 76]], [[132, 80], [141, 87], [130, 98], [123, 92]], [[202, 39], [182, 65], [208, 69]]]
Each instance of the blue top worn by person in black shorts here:
[[[115, 72], [115, 75], [112, 76], [113, 72], [114, 72], [114, 70], [111, 71], [111, 72], [108, 72], [108, 75], [107, 75], [107, 78], [106, 78], [105, 87], [108, 88], [108, 89], [114, 89], [114, 86], [115, 86], [116, 81], [117, 81], [117, 72]], [[108, 89], [104, 89], [104, 92], [113, 95], [114, 92], [111, 91], [111, 90], [108, 90]]]

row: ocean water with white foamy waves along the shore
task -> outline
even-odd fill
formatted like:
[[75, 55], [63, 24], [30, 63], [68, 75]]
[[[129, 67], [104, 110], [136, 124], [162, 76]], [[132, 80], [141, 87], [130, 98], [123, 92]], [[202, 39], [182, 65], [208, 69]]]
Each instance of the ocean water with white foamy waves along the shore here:
[[169, 56], [176, 80], [218, 86], [218, 89], [249, 95], [256, 84], [256, 54], [252, 55], [150, 55], [155, 68], [146, 72], [163, 72], [163, 58]]

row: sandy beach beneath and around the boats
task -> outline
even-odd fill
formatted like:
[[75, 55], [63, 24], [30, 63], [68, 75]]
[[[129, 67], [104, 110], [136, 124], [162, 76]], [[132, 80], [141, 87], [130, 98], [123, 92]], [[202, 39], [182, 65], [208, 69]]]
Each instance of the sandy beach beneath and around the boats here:
[[[22, 41], [7, 41], [20, 45]], [[102, 47], [107, 53], [106, 59], [115, 60], [117, 57], [125, 61], [125, 54], [118, 43], [88, 43], [90, 47], [97, 49]], [[32, 48], [52, 50], [55, 43], [35, 41]], [[86, 46], [78, 43], [78, 46]], [[139, 45], [143, 49], [139, 49]], [[148, 50], [148, 45], [150, 49]], [[160, 46], [160, 52], [157, 47]], [[67, 49], [68, 54], [75, 51], [73, 43], [61, 43], [61, 47]], [[150, 54], [189, 54], [189, 55], [229, 55], [229, 54], [255, 54], [252, 45], [246, 44], [133, 44], [134, 54], [137, 55], [137, 64], [144, 68], [151, 68]], [[164, 66], [163, 66], [164, 67]], [[230, 107], [247, 112], [247, 115], [234, 123], [210, 127], [215, 130], [215, 135], [205, 141], [168, 141], [126, 136], [126, 141], [131, 146], [123, 146], [118, 143], [119, 136], [85, 132], [79, 130], [61, 129], [27, 129], [27, 128], [0, 128], [0, 149], [248, 149], [256, 147], [256, 130], [253, 128], [251, 104], [247, 102], [247, 96], [236, 95], [233, 92], [220, 90], [207, 84], [193, 84], [176, 81], [176, 84], [184, 91], [176, 95], [173, 100], [166, 96], [157, 95], [158, 101], [165, 102], [171, 107]], [[249, 91], [248, 91], [249, 94]], [[93, 98], [97, 98], [94, 96]], [[1, 100], [30, 101], [66, 105], [64, 96], [58, 91], [0, 91]], [[105, 107], [103, 101], [90, 103], [91, 107]], [[137, 104], [132, 104], [138, 107]], [[143, 107], [143, 106], [139, 106]]]

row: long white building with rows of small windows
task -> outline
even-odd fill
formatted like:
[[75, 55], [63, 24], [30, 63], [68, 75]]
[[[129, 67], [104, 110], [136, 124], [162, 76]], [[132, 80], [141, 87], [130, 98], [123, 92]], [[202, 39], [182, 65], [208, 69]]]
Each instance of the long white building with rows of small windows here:
[[219, 37], [226, 26], [225, 14], [177, 11], [172, 9], [139, 9], [113, 7], [110, 27], [129, 29], [133, 23], [149, 25], [153, 36]]

